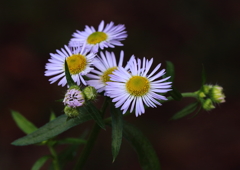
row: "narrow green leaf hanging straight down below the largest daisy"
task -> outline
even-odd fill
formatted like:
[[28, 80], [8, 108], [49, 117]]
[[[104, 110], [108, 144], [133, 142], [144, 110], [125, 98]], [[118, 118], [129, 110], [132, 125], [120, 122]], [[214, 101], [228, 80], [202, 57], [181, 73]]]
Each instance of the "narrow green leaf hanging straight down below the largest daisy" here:
[[112, 117], [112, 155], [114, 162], [122, 144], [123, 116], [121, 110], [115, 108], [113, 104], [111, 104], [110, 111]]

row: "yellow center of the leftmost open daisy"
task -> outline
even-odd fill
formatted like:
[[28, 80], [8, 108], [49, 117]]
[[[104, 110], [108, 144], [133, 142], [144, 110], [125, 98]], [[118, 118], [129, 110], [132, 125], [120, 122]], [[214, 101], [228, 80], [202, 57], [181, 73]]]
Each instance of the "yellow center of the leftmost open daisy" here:
[[73, 54], [67, 58], [68, 69], [71, 74], [82, 72], [87, 66], [87, 59], [80, 54]]

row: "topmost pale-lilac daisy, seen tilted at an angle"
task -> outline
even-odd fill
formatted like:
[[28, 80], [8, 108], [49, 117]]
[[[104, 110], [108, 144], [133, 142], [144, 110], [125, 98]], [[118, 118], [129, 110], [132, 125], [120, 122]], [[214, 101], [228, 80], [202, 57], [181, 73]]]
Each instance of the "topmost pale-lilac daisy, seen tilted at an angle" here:
[[110, 22], [104, 28], [104, 21], [102, 21], [98, 30], [94, 27], [86, 26], [84, 31], [76, 31], [73, 33], [73, 38], [69, 42], [70, 47], [78, 47], [86, 44], [86, 48], [93, 52], [98, 52], [98, 49], [114, 48], [114, 46], [123, 46], [120, 42], [127, 37], [125, 26], [119, 24], [114, 26], [113, 22]]

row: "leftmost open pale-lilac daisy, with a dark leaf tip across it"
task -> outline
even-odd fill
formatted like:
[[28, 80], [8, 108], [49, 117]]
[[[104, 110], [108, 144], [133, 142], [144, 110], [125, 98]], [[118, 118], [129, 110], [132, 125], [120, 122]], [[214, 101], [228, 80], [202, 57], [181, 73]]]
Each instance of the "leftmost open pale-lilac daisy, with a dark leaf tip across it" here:
[[80, 47], [70, 49], [65, 45], [64, 48], [65, 49], [56, 50], [56, 54], [50, 53], [51, 59], [48, 60], [49, 63], [45, 66], [45, 76], [54, 76], [49, 79], [51, 84], [60, 79], [58, 85], [65, 86], [67, 84], [64, 64], [66, 60], [74, 82], [76, 82], [77, 85], [80, 85], [81, 82], [87, 85], [82, 76], [93, 69], [91, 65], [95, 54], [89, 53], [88, 50]]

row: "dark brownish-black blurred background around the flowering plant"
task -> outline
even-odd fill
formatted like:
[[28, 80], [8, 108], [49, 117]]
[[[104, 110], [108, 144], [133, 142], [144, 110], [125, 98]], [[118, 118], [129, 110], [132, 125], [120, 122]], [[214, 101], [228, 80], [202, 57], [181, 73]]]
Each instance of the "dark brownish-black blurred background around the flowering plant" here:
[[[199, 89], [203, 65], [207, 83], [224, 87], [226, 103], [193, 119], [169, 121], [191, 99], [125, 118], [152, 142], [162, 169], [240, 169], [240, 1], [3, 0], [0, 16], [0, 169], [30, 169], [39, 157], [49, 154], [41, 146], [10, 144], [24, 136], [10, 110], [19, 111], [38, 127], [48, 122], [51, 110], [63, 114], [63, 105], [55, 100], [63, 97], [66, 88], [50, 85], [49, 77], [44, 77], [49, 53], [67, 44], [76, 29], [97, 28], [101, 20], [125, 24], [129, 35], [123, 47], [107, 50], [117, 56], [124, 50], [126, 58], [153, 57], [154, 65], [162, 63], [162, 68], [166, 60], [172, 61], [175, 86], [181, 92]], [[92, 125], [93, 121], [87, 122], [61, 136], [79, 136]], [[140, 165], [126, 140], [112, 163], [108, 128], [100, 133], [85, 169], [140, 169]]]

